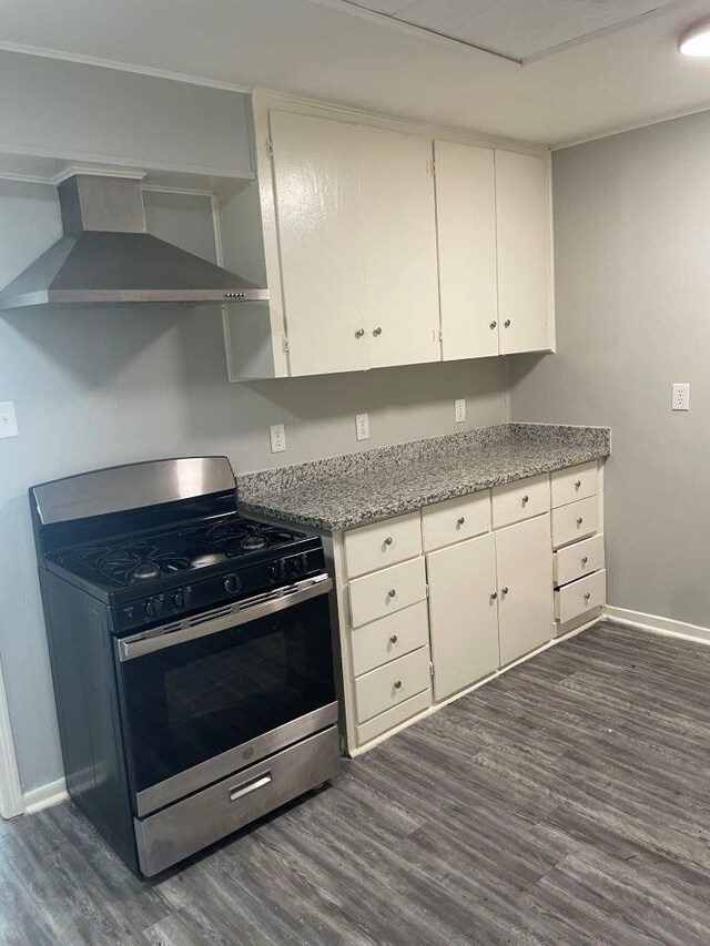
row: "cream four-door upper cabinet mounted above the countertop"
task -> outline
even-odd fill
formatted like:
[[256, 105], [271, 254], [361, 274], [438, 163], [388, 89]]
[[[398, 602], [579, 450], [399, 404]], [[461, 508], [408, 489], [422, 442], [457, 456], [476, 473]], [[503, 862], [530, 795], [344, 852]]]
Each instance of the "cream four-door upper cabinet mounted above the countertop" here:
[[271, 302], [227, 316], [232, 380], [554, 349], [548, 153], [263, 102]]

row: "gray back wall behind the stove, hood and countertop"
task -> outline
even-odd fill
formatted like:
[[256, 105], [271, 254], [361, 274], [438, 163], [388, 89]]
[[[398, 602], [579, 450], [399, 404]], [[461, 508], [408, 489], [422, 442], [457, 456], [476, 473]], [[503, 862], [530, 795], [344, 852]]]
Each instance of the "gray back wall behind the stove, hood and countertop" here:
[[[213, 258], [204, 199], [149, 194], [150, 228]], [[59, 236], [53, 189], [0, 182], [0, 285]], [[456, 397], [468, 419], [453, 423]], [[0, 317], [0, 658], [24, 790], [61, 777], [27, 489], [151, 457], [226, 454], [237, 471], [445, 434], [508, 418], [497, 359], [362, 375], [226, 383], [219, 311], [126, 308]], [[372, 438], [355, 439], [356, 411]], [[272, 455], [268, 425], [286, 424]]]

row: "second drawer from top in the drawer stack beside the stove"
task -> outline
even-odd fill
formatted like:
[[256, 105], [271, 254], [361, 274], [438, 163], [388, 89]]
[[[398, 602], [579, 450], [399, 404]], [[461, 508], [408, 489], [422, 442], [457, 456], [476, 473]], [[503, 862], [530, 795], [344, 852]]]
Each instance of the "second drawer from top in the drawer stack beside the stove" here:
[[426, 598], [424, 559], [356, 578], [349, 584], [351, 624], [358, 628]]

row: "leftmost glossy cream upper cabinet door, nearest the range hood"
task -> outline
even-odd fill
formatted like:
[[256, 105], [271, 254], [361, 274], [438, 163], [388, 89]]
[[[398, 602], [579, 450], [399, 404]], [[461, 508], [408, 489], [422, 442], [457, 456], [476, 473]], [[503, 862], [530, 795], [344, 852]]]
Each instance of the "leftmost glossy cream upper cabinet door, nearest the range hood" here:
[[368, 366], [357, 126], [270, 113], [292, 375]]

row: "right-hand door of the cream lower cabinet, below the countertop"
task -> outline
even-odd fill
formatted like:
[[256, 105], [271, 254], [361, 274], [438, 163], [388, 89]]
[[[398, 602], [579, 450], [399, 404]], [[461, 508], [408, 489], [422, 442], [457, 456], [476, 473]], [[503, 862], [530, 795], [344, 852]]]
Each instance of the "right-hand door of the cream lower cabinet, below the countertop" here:
[[500, 665], [552, 635], [552, 551], [549, 513], [495, 533]]

